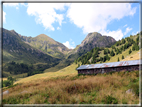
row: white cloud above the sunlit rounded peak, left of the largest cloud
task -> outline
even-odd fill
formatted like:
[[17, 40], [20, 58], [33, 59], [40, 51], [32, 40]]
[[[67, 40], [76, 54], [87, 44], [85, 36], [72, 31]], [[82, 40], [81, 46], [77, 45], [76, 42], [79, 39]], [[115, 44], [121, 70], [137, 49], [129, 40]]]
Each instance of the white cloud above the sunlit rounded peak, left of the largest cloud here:
[[37, 24], [42, 24], [45, 29], [54, 31], [52, 24], [58, 22], [61, 26], [64, 19], [63, 14], [58, 14], [55, 10], [63, 11], [66, 5], [65, 3], [28, 3], [27, 13], [35, 16]]

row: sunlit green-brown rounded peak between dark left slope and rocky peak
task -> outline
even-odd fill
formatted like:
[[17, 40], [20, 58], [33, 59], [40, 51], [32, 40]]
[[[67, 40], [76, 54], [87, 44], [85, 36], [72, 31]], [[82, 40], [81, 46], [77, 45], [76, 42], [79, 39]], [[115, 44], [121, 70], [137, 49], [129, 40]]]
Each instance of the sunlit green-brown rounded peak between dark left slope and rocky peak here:
[[41, 51], [57, 58], [64, 58], [64, 56], [70, 51], [63, 44], [53, 40], [45, 34], [40, 34], [36, 37], [20, 36], [25, 43], [40, 49]]

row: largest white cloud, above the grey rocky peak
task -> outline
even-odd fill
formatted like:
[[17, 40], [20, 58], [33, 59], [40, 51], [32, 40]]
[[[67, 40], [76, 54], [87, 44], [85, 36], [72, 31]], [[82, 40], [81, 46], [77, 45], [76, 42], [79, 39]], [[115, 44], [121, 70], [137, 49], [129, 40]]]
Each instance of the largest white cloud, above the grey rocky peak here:
[[73, 3], [69, 6], [67, 17], [84, 33], [104, 32], [112, 20], [133, 16], [135, 12], [136, 8], [129, 3]]

